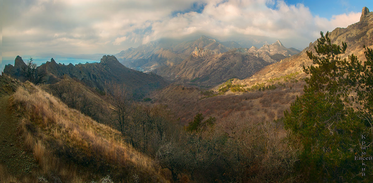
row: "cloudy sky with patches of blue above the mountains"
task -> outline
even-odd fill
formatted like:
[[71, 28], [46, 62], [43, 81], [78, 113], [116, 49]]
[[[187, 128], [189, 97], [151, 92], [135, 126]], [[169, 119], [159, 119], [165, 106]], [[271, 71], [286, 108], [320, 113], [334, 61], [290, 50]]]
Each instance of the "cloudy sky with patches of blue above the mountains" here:
[[[303, 49], [371, 0], [3, 0], [2, 56], [115, 54], [160, 38], [250, 35]], [[37, 55], [35, 55], [37, 56]]]

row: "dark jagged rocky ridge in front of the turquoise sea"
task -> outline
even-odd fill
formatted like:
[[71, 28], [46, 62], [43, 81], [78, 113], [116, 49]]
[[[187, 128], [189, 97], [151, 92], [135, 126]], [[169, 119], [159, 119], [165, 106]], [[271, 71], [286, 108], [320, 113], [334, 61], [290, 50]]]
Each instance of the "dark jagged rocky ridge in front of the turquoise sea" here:
[[[4, 73], [22, 80], [23, 65], [25, 63], [22, 58], [17, 56], [15, 65], [6, 65]], [[46, 83], [50, 84], [60, 81], [65, 75], [101, 91], [106, 90], [105, 83], [125, 84], [136, 99], [142, 99], [148, 92], [167, 85], [162, 77], [131, 70], [109, 55], [104, 55], [99, 63], [77, 65], [57, 64], [52, 58], [50, 62], [40, 65], [37, 70], [47, 74]]]

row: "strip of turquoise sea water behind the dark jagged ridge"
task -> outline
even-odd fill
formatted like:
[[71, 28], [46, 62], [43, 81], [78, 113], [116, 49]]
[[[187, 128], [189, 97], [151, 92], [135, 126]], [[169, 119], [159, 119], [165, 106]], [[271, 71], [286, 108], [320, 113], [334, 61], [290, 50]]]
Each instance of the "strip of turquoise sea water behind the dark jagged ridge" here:
[[[22, 57], [22, 56], [21, 56]], [[0, 65], [0, 73], [4, 71], [5, 65], [11, 64], [14, 66], [14, 60], [16, 57], [2, 57], [2, 62]], [[27, 63], [29, 57], [22, 57], [23, 62]], [[38, 66], [41, 64], [46, 63], [47, 61], [50, 61], [51, 58], [40, 58], [40, 57], [32, 57], [33, 63], [37, 64]], [[86, 62], [88, 63], [93, 63], [93, 62], [100, 62], [97, 60], [84, 60], [84, 59], [72, 59], [72, 58], [53, 58], [54, 61], [61, 64], [69, 65], [72, 63], [73, 65], [76, 64], [85, 64]]]

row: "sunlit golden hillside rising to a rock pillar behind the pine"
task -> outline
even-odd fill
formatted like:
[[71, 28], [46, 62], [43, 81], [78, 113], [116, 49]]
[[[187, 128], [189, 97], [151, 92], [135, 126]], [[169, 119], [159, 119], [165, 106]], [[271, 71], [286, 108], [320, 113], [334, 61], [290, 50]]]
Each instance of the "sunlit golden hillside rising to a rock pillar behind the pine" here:
[[[373, 13], [369, 12], [369, 10], [367, 11], [367, 14], [362, 13], [359, 22], [349, 25], [347, 28], [335, 28], [329, 33], [332, 43], [337, 45], [341, 45], [342, 42], [347, 43], [347, 50], [342, 57], [354, 54], [359, 60], [364, 60], [363, 46], [373, 46]], [[306, 75], [303, 73], [303, 65], [307, 66], [312, 64], [311, 60], [307, 57], [306, 51], [314, 52], [314, 46], [316, 44], [317, 41], [313, 43], [311, 42], [310, 45], [303, 49], [299, 54], [268, 65], [253, 76], [237, 81], [236, 84], [252, 86], [255, 83], [280, 78], [296, 72], [301, 73], [299, 77], [304, 78]]]

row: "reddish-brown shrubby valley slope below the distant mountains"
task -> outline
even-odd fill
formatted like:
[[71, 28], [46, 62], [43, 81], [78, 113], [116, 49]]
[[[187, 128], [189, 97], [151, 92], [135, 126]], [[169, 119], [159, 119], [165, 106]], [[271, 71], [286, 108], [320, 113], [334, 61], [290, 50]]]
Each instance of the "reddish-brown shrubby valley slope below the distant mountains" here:
[[152, 92], [149, 97], [152, 102], [167, 105], [175, 118], [180, 118], [181, 124], [186, 125], [197, 113], [213, 116], [218, 121], [224, 121], [232, 116], [253, 121], [272, 121], [283, 117], [283, 111], [288, 109], [291, 102], [301, 93], [303, 85], [300, 85], [300, 82], [275, 90], [229, 91], [224, 95], [194, 86], [170, 85]]

